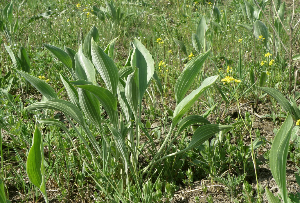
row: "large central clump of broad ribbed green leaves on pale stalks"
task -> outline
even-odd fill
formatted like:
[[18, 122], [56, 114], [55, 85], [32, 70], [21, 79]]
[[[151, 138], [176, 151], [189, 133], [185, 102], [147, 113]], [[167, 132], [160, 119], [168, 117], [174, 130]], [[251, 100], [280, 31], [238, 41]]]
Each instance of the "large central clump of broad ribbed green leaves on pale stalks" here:
[[[32, 111], [53, 109], [64, 113], [78, 138], [85, 144], [85, 153], [77, 149], [62, 122], [55, 119], [40, 119], [39, 122], [56, 125], [65, 131], [88, 168], [89, 176], [107, 201], [152, 202], [155, 189], [152, 178], [159, 177], [164, 159], [192, 150], [214, 134], [234, 128], [234, 125], [210, 124], [200, 115], [186, 116], [182, 119], [199, 96], [218, 78], [216, 75], [204, 79], [200, 87], [185, 96], [210, 50], [190, 60], [176, 81], [176, 108], [172, 123], [170, 128], [166, 129], [167, 135], [157, 149], [154, 138], [149, 135], [141, 121], [143, 99], [149, 84], [152, 79], [160, 84], [152, 55], [139, 40], [135, 39], [131, 43], [132, 50], [125, 67], [118, 70], [111, 58], [116, 39], [103, 50], [97, 44], [98, 35], [98, 30], [93, 26], [77, 52], [67, 47], [64, 47], [64, 51], [56, 46], [44, 44], [70, 73], [71, 79], [60, 75], [70, 101], [59, 99], [53, 88], [35, 75], [17, 70], [48, 99], [31, 104], [26, 109]], [[98, 74], [105, 85], [98, 84]], [[118, 104], [121, 107], [120, 112]], [[101, 115], [102, 108], [108, 116], [106, 119]], [[170, 153], [176, 138], [194, 123], [204, 125], [195, 130], [186, 149]], [[107, 135], [107, 131], [111, 135]], [[96, 140], [96, 136], [101, 137], [100, 141]], [[141, 144], [141, 136], [147, 138], [146, 143]], [[151, 161], [149, 155], [145, 153], [145, 148], [153, 157]], [[140, 156], [146, 158], [148, 162], [146, 167], [139, 163]]]

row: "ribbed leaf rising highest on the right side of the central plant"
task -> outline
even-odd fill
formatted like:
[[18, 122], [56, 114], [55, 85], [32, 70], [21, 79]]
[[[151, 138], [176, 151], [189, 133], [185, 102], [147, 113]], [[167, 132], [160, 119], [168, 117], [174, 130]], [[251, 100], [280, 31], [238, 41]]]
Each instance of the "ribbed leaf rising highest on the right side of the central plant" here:
[[200, 54], [187, 62], [183, 72], [180, 74], [179, 78], [175, 83], [175, 99], [176, 105], [182, 101], [187, 90], [190, 89], [194, 79], [199, 74], [202, 69], [202, 65], [210, 54], [210, 49], [203, 54]]

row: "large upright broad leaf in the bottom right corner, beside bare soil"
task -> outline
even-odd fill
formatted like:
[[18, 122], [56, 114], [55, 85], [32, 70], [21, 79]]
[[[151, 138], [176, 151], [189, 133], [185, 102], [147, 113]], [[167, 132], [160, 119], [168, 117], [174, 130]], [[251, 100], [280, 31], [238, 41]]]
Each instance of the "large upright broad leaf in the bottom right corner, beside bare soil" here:
[[289, 140], [293, 126], [292, 116], [288, 114], [274, 137], [270, 149], [270, 169], [281, 194], [283, 203], [288, 202], [286, 189], [286, 161], [289, 151]]

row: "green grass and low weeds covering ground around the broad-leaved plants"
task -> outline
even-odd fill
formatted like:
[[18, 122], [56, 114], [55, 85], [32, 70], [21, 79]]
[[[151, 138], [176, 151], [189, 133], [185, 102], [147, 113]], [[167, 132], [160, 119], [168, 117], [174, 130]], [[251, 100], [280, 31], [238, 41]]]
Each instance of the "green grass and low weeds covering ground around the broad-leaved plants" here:
[[[0, 8], [4, 8], [9, 2], [1, 2]], [[275, 88], [287, 96], [289, 55], [281, 45], [279, 48], [275, 46], [276, 42], [273, 42], [275, 35], [265, 16], [262, 15], [260, 20], [269, 31], [270, 49], [268, 50], [261, 39], [257, 40], [257, 37], [253, 37], [253, 33], [245, 28], [236, 28], [236, 25], [239, 24], [251, 24], [251, 27], [253, 24], [250, 22], [247, 12], [243, 12], [244, 1], [114, 1], [116, 6], [120, 2], [122, 2], [121, 10], [124, 12], [124, 16], [119, 23], [112, 24], [112, 20], [105, 19], [102, 22], [91, 13], [92, 6], [106, 7], [104, 1], [101, 1], [100, 4], [93, 1], [80, 1], [78, 6], [76, 4], [79, 2], [65, 0], [13, 1], [12, 26], [18, 19], [19, 27], [11, 33], [11, 44], [8, 44], [4, 34], [0, 36], [2, 72], [0, 87], [3, 89], [8, 87], [9, 92], [5, 94], [4, 91], [0, 91], [0, 138], [2, 141], [0, 167], [7, 198], [17, 202], [43, 201], [41, 193], [29, 181], [26, 174], [26, 160], [29, 148], [32, 146], [33, 130], [37, 125], [44, 136], [44, 173], [49, 202], [68, 202], [68, 200], [73, 202], [113, 202], [112, 199], [116, 202], [130, 202], [128, 199], [132, 202], [175, 202], [176, 192], [200, 188], [202, 185], [199, 185], [199, 181], [206, 181], [205, 187], [215, 184], [226, 187], [220, 191], [228, 201], [266, 201], [265, 188], [262, 188], [265, 182], [256, 183], [252, 180], [259, 181], [260, 172], [269, 169], [271, 159], [266, 151], [270, 150], [268, 142], [272, 142], [275, 134], [266, 137], [264, 128], [260, 127], [260, 129], [254, 130], [262, 120], [267, 123], [268, 127], [279, 129], [286, 112], [280, 107], [282, 104], [278, 105], [276, 100], [256, 88], [255, 85], [262, 84], [265, 87]], [[252, 6], [255, 5], [254, 1], [250, 3]], [[219, 20], [214, 19], [211, 15], [214, 6], [220, 11]], [[285, 6], [284, 24], [288, 29], [292, 5], [286, 3]], [[271, 4], [268, 2], [264, 12], [272, 22], [274, 11], [270, 8]], [[299, 13], [299, 10], [300, 7], [296, 4], [295, 13]], [[32, 16], [48, 11], [57, 14], [29, 22]], [[187, 110], [185, 116], [193, 114], [207, 116], [211, 124], [233, 125], [235, 122], [242, 124], [230, 131], [221, 131], [203, 144], [200, 143], [201, 145], [184, 153], [164, 157], [188, 147], [193, 139], [193, 134], [197, 132], [196, 129], [202, 126], [202, 124], [201, 126], [192, 125], [185, 128], [176, 139], [173, 140], [176, 133], [170, 133], [170, 139], [165, 139], [175, 127], [171, 125], [171, 121], [176, 112], [174, 111], [176, 81], [185, 65], [193, 58], [189, 58], [189, 55], [191, 53], [194, 57], [198, 55], [192, 45], [191, 37], [193, 33], [196, 33], [198, 21], [202, 16], [209, 24], [205, 40], [207, 42], [206, 50], [211, 48], [211, 53], [186, 95], [197, 89], [205, 78], [213, 75], [220, 76], [214, 85], [206, 90]], [[293, 25], [297, 22], [297, 17], [299, 16], [295, 17]], [[5, 22], [3, 16], [0, 16], [0, 19]], [[219, 27], [214, 26], [217, 25], [216, 22], [219, 23]], [[141, 106], [139, 106], [141, 115], [138, 117], [142, 123], [141, 126], [137, 125], [138, 121], [134, 122], [134, 117], [132, 117], [131, 126], [128, 127], [132, 129], [129, 136], [140, 137], [140, 146], [137, 145], [135, 148], [128, 134], [125, 134], [124, 146], [126, 153], [130, 154], [129, 163], [125, 163], [122, 153], [119, 153], [122, 152], [121, 144], [115, 142], [118, 135], [111, 134], [113, 131], [107, 127], [107, 124], [112, 125], [120, 133], [122, 126], [112, 123], [103, 108], [100, 108], [99, 111], [100, 128], [92, 123], [91, 119], [88, 119], [87, 113], [84, 113], [83, 121], [87, 124], [87, 129], [80, 126], [80, 123], [76, 123], [78, 121], [74, 122], [74, 118], [69, 119], [60, 110], [27, 110], [25, 107], [28, 107], [29, 104], [42, 101], [42, 95], [20, 76], [4, 48], [4, 44], [10, 46], [10, 49], [17, 55], [19, 46], [24, 47], [31, 61], [30, 73], [35, 76], [44, 76], [44, 81], [49, 79], [47, 83], [56, 93], [62, 90], [58, 94], [58, 98], [70, 101], [66, 89], [62, 89], [64, 84], [61, 82], [59, 74], [64, 75], [67, 80], [73, 81], [74, 79], [65, 66], [42, 43], [61, 49], [67, 46], [77, 52], [81, 40], [83, 43], [93, 25], [98, 29], [97, 44], [102, 49], [112, 39], [118, 37], [113, 58], [118, 70], [122, 69], [126, 63], [131, 50], [130, 42], [135, 39], [139, 40], [152, 55], [155, 72], [162, 84], [162, 94], [154, 80], [147, 88]], [[83, 39], [80, 39], [80, 30]], [[296, 38], [292, 42], [294, 45], [298, 40], [298, 32], [299, 30], [295, 29]], [[288, 35], [282, 31], [280, 37], [283, 44], [289, 47]], [[164, 43], [158, 43], [158, 38], [161, 38], [160, 42]], [[187, 55], [176, 45], [173, 38], [182, 41]], [[298, 54], [296, 50], [296, 48], [293, 49], [292, 55]], [[267, 52], [272, 56], [265, 57]], [[272, 59], [274, 59], [274, 64], [269, 65]], [[265, 61], [264, 65], [261, 65], [262, 61]], [[227, 66], [229, 66], [228, 72]], [[232, 67], [232, 72], [230, 67]], [[296, 66], [292, 66], [292, 73], [295, 70]], [[266, 76], [260, 81], [260, 75], [264, 71], [267, 72]], [[11, 74], [4, 78], [9, 72]], [[221, 79], [226, 75], [241, 80], [241, 82], [223, 83]], [[13, 81], [9, 84], [11, 79]], [[96, 81], [100, 86], [107, 87], [97, 71]], [[74, 83], [73, 85], [78, 86]], [[296, 84], [296, 91], [298, 88], [298, 84]], [[96, 97], [91, 98], [95, 99]], [[98, 99], [95, 100], [98, 102]], [[94, 104], [99, 107], [97, 102]], [[118, 106], [120, 106], [119, 100]], [[251, 108], [254, 108], [262, 118], [254, 116], [254, 112], [250, 113]], [[265, 114], [271, 114], [271, 111], [274, 111], [277, 117], [276, 115], [272, 119], [271, 116], [264, 117]], [[123, 113], [123, 110], [119, 108], [118, 114], [120, 112]], [[282, 118], [278, 115], [281, 115]], [[53, 118], [67, 124], [69, 134], [61, 131], [57, 126], [40, 123], [41, 119]], [[294, 116], [295, 122], [297, 119], [299, 118]], [[71, 121], [74, 122], [73, 125], [70, 124]], [[125, 125], [125, 123], [123, 124]], [[74, 128], [75, 126], [76, 128]], [[142, 130], [143, 128], [146, 128], [146, 132]], [[263, 133], [260, 134], [259, 130]], [[276, 132], [276, 130], [274, 131]], [[90, 134], [86, 134], [86, 132], [90, 132]], [[148, 134], [149, 136], [147, 136]], [[79, 135], [87, 144], [83, 143]], [[106, 138], [104, 139], [103, 136]], [[96, 142], [91, 137], [95, 137]], [[296, 166], [300, 166], [297, 158], [300, 154], [298, 137], [298, 132], [292, 134], [287, 152], [287, 163], [293, 172], [297, 171]], [[73, 143], [70, 142], [70, 139]], [[153, 164], [152, 158], [165, 140], [166, 145], [162, 148], [162, 153], [155, 159], [155, 161], [160, 161]], [[174, 142], [171, 142], [172, 140]], [[254, 143], [253, 148], [255, 148], [253, 156], [251, 156], [252, 142]], [[92, 153], [87, 146], [91, 148]], [[101, 150], [107, 153], [104, 153], [107, 157], [101, 158], [101, 153], [96, 150], [95, 146], [100, 146]], [[107, 149], [104, 149], [104, 146]], [[129, 150], [129, 146], [132, 147], [133, 152]], [[127, 166], [132, 169], [126, 168]], [[257, 190], [257, 187], [260, 189]], [[207, 188], [197, 190], [199, 193], [194, 196], [217, 199], [214, 192], [216, 188], [212, 188], [214, 190], [206, 191]], [[297, 196], [294, 190], [288, 192]], [[249, 193], [251, 195], [247, 196]], [[277, 196], [276, 193], [274, 194]], [[190, 202], [195, 202], [194, 196], [187, 195], [186, 198]]]

